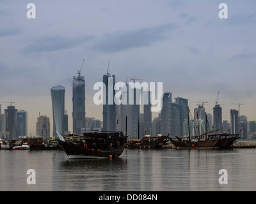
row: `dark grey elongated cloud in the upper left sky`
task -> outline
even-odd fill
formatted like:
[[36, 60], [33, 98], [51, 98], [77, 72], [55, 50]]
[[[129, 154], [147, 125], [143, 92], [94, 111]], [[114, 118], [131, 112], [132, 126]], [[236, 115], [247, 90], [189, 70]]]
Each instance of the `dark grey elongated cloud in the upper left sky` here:
[[61, 36], [47, 36], [38, 38], [32, 41], [27, 47], [24, 47], [22, 51], [25, 52], [52, 52], [56, 50], [63, 50], [67, 48], [76, 47], [81, 43], [86, 43], [92, 40], [92, 36], [86, 36], [83, 38], [65, 38]]

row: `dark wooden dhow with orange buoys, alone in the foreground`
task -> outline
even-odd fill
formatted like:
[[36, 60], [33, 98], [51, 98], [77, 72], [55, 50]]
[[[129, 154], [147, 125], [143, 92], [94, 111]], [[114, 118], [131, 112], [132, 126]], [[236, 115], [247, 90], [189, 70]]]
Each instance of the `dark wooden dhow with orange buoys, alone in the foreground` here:
[[128, 137], [122, 131], [57, 135], [68, 159], [119, 157], [127, 145]]

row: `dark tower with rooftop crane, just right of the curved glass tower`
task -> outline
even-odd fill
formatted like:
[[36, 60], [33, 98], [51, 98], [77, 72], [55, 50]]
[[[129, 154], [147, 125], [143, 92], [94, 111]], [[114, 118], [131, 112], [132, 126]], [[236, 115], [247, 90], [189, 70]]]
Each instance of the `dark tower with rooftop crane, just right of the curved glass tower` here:
[[81, 135], [81, 128], [85, 124], [85, 82], [80, 71], [73, 77], [73, 133]]

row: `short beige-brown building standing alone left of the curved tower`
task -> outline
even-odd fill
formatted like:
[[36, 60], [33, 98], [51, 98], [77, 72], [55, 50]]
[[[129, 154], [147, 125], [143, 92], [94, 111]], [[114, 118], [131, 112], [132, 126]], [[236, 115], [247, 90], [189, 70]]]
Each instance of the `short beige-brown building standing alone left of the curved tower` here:
[[36, 135], [42, 136], [44, 140], [50, 138], [50, 119], [46, 115], [39, 115], [36, 122]]

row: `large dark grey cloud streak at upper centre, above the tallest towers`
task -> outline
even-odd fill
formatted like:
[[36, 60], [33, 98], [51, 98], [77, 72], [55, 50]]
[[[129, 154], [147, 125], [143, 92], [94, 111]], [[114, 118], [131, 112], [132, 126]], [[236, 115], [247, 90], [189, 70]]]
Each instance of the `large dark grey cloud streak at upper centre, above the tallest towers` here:
[[168, 32], [176, 27], [177, 25], [170, 23], [135, 31], [106, 34], [93, 48], [102, 52], [120, 52], [131, 48], [147, 47], [153, 42], [166, 40]]

